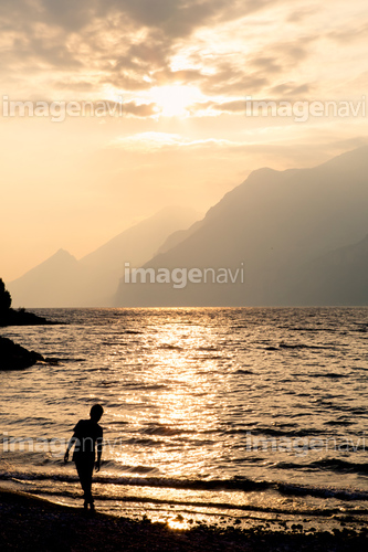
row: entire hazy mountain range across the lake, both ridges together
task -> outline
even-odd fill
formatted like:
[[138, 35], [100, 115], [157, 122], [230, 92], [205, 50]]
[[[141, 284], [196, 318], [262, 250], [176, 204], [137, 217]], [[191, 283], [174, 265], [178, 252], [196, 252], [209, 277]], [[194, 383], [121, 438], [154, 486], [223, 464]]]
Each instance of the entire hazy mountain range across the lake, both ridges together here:
[[367, 174], [367, 146], [259, 169], [202, 220], [165, 209], [80, 261], [60, 250], [8, 289], [24, 307], [368, 305]]

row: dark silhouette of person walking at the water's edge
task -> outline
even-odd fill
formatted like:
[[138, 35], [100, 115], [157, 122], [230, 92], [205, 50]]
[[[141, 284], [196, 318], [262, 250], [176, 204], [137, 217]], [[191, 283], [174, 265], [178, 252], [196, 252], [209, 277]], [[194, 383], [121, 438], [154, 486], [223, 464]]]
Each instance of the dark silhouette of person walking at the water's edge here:
[[[93, 468], [99, 471], [101, 456], [103, 447], [103, 428], [98, 425], [104, 408], [101, 404], [94, 404], [90, 412], [90, 420], [80, 420], [74, 427], [74, 434], [71, 437], [64, 461], [69, 460], [69, 452], [74, 446], [73, 461], [80, 477], [81, 486], [84, 491], [84, 509], [94, 510], [94, 500], [92, 496], [92, 474]], [[97, 450], [97, 460], [96, 460]]]

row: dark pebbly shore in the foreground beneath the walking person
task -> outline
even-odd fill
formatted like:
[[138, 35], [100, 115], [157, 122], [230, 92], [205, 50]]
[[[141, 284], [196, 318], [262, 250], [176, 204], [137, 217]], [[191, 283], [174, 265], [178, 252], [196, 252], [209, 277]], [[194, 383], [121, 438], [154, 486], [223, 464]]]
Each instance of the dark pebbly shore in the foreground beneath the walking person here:
[[201, 523], [175, 530], [166, 523], [84, 512], [24, 492], [0, 489], [0, 549], [3, 551], [91, 550], [159, 552], [349, 551], [367, 549], [368, 532], [343, 529], [294, 532], [225, 528]]

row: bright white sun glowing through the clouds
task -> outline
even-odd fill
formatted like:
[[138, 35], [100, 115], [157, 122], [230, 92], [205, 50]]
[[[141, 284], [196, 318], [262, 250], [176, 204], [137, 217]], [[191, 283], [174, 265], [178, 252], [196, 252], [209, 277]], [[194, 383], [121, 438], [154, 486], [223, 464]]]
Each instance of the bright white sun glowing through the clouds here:
[[188, 107], [201, 97], [198, 88], [186, 85], [155, 86], [149, 95], [160, 108], [160, 115], [164, 117], [187, 116]]

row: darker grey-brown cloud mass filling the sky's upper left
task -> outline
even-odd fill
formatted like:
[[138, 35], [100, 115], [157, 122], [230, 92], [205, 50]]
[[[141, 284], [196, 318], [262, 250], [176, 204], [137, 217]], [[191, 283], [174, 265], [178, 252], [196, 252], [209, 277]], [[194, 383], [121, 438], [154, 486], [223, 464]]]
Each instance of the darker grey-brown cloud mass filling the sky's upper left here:
[[277, 3], [277, 0], [2, 0], [0, 28], [13, 33], [2, 62], [10, 72], [14, 66], [18, 71], [40, 74], [51, 68], [88, 71], [99, 74], [103, 83], [128, 91], [147, 89], [151, 81], [154, 85], [193, 82], [201, 78], [198, 70], [170, 67], [178, 41], [188, 41], [203, 26], [233, 21]]

